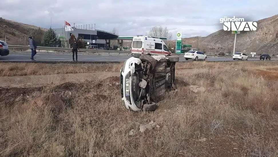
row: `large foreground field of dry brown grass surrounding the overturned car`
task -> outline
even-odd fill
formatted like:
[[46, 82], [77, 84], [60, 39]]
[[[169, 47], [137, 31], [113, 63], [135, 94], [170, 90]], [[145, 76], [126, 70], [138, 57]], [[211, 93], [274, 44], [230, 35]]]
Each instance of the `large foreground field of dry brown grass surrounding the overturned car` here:
[[[254, 73], [262, 63], [198, 62], [191, 71], [186, 64], [178, 64], [178, 91], [167, 93], [155, 112], [127, 111], [118, 77], [1, 89], [0, 156], [277, 156], [278, 82]], [[193, 93], [190, 85], [206, 91]], [[72, 97], [63, 98], [60, 111], [32, 103], [63, 91]], [[138, 131], [164, 112], [172, 114], [159, 128]]]

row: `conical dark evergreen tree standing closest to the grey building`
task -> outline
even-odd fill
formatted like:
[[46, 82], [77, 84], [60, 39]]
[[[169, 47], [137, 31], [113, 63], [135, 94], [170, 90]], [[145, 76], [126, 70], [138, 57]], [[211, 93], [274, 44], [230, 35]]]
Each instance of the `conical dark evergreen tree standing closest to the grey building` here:
[[56, 47], [57, 45], [59, 46], [59, 39], [57, 38], [57, 34], [49, 28], [47, 32], [45, 32], [41, 43], [43, 46], [47, 47]]

